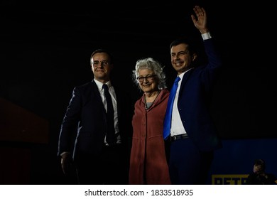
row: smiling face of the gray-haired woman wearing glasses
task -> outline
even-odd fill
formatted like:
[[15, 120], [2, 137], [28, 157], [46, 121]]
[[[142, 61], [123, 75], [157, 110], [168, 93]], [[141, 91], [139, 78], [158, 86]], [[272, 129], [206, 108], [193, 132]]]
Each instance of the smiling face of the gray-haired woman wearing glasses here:
[[139, 70], [139, 77], [141, 77], [139, 87], [143, 92], [151, 93], [158, 90], [158, 82], [153, 70], [141, 69]]

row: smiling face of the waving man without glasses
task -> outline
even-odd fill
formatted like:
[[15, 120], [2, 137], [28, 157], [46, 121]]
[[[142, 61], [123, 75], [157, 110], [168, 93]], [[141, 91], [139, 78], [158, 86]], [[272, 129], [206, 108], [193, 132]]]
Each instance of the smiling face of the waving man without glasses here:
[[191, 68], [192, 61], [195, 60], [196, 54], [191, 55], [188, 45], [180, 43], [173, 45], [170, 49], [171, 65], [178, 72], [178, 75]]

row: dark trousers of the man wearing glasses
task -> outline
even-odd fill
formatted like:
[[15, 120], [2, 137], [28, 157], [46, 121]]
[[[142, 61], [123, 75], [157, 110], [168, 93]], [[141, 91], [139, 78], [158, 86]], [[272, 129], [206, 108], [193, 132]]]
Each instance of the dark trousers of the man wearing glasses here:
[[104, 146], [99, 156], [82, 156], [76, 163], [80, 185], [128, 184], [129, 161], [121, 146]]

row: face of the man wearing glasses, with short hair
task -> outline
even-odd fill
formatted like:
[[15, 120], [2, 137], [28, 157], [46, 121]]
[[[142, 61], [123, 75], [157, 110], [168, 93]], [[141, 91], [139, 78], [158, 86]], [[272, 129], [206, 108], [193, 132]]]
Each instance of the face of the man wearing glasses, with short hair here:
[[94, 78], [102, 83], [109, 81], [109, 75], [114, 67], [110, 63], [109, 55], [107, 53], [95, 53], [92, 56], [91, 63]]

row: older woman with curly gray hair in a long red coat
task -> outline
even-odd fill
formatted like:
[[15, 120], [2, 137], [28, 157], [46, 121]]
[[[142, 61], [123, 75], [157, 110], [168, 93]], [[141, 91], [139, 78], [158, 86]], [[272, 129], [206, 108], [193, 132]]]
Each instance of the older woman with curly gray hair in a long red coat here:
[[132, 120], [129, 184], [170, 184], [163, 140], [169, 92], [163, 67], [153, 58], [141, 59], [133, 77], [143, 95], [136, 101]]

